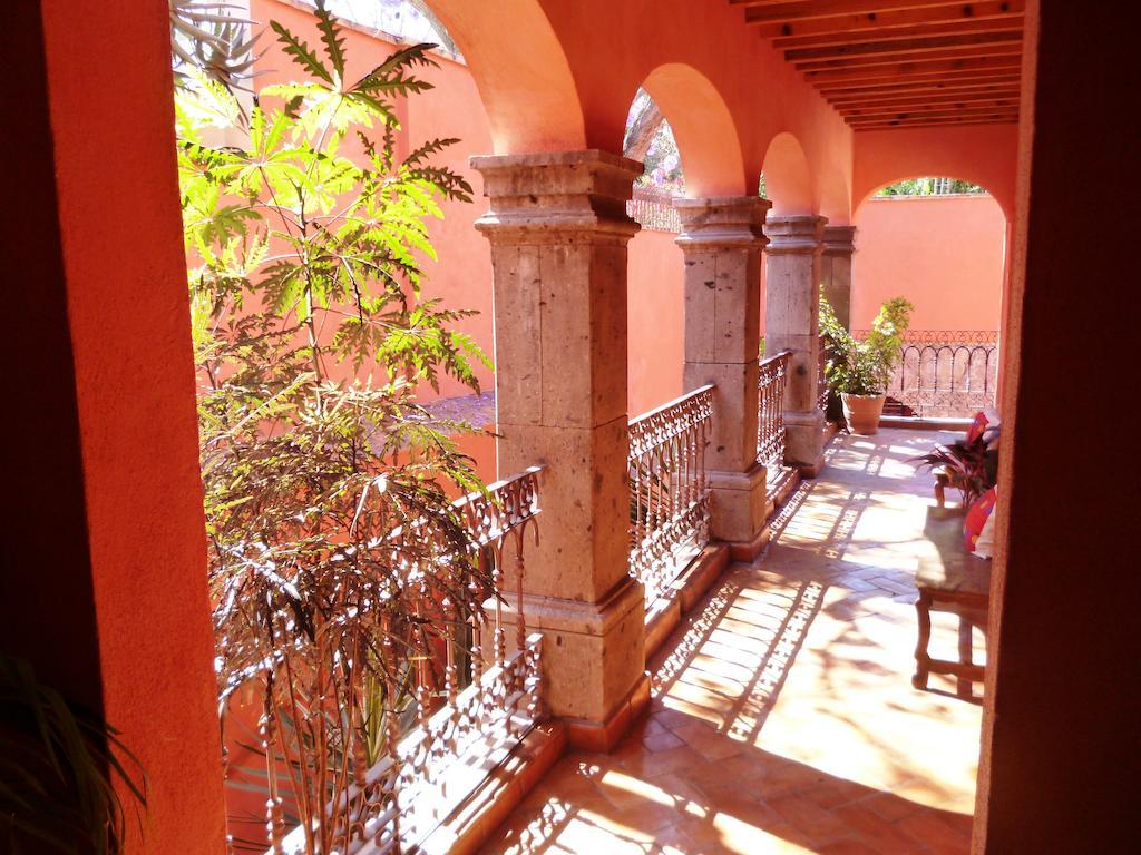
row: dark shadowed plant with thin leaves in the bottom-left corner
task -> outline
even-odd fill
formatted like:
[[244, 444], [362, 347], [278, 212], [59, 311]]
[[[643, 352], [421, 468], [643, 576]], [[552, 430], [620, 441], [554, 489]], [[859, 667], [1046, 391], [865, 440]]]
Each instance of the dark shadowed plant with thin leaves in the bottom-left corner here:
[[[133, 766], [135, 772], [128, 771]], [[123, 849], [128, 793], [146, 808], [146, 779], [119, 732], [0, 656], [0, 845], [3, 852]]]

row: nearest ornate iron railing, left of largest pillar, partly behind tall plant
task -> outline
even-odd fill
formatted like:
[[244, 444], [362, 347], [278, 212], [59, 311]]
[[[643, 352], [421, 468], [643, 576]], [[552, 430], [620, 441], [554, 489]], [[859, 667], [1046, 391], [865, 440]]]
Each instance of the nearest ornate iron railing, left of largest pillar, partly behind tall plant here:
[[[415, 849], [541, 720], [542, 635], [528, 635], [521, 611], [528, 528], [537, 540], [540, 471], [528, 469], [488, 486], [486, 495], [470, 494], [455, 503], [477, 560], [492, 570], [488, 626], [470, 625], [470, 646], [447, 638], [440, 651], [443, 692], [434, 689], [426, 662], [412, 666], [416, 691], [411, 709], [402, 712], [413, 712], [414, 725], [402, 731], [402, 716], [386, 715], [385, 756], [330, 805], [334, 833], [347, 841], [342, 852], [398, 855]], [[502, 598], [509, 588], [517, 604], [510, 653]], [[426, 598], [431, 595], [426, 584]], [[439, 605], [445, 620], [455, 620], [446, 598]], [[489, 651], [484, 648], [488, 634]], [[304, 829], [297, 828], [269, 852], [304, 850]]]

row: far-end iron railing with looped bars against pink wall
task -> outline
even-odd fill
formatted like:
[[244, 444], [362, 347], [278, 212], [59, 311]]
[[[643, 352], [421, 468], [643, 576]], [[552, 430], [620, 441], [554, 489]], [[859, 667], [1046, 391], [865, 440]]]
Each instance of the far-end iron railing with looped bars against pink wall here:
[[[867, 331], [853, 333], [865, 339]], [[969, 417], [995, 402], [998, 333], [992, 329], [908, 329], [888, 385], [905, 416]]]

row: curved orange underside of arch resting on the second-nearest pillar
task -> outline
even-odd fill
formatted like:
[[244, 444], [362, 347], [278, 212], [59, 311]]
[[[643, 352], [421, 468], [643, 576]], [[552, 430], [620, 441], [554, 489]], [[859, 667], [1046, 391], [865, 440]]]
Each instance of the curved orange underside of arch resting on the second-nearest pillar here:
[[709, 78], [683, 63], [642, 83], [673, 130], [688, 196], [745, 195], [745, 161], [733, 114]]

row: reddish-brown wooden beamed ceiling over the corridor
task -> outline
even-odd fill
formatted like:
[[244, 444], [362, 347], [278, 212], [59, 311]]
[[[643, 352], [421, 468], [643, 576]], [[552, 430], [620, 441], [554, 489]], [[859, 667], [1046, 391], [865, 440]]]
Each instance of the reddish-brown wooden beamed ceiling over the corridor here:
[[1026, 0], [729, 0], [856, 130], [1018, 121]]

